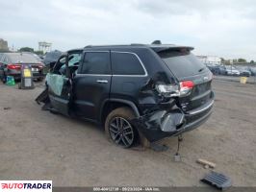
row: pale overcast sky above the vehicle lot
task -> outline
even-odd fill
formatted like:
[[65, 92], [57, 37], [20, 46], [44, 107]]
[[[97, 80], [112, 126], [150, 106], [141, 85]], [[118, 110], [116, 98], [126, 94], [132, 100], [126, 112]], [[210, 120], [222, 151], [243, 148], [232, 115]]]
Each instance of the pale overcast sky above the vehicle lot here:
[[1, 0], [0, 37], [9, 46], [190, 45], [194, 53], [256, 60], [255, 0]]

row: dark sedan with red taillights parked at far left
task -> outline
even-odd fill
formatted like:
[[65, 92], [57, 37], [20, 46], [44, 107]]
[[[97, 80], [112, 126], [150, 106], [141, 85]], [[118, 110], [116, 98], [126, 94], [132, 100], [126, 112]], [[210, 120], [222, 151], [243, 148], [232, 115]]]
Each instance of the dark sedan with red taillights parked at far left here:
[[13, 76], [15, 80], [20, 80], [21, 65], [30, 64], [34, 79], [43, 80], [43, 63], [28, 53], [2, 53], [0, 56], [0, 78], [3, 83], [7, 76]]

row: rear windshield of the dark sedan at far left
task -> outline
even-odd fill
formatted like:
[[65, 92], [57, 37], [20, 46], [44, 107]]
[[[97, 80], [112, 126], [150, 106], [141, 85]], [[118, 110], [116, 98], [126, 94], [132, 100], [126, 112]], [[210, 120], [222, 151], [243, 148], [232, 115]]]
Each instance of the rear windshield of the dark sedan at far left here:
[[39, 61], [31, 54], [10, 54], [8, 55], [11, 62], [13, 63], [38, 63]]

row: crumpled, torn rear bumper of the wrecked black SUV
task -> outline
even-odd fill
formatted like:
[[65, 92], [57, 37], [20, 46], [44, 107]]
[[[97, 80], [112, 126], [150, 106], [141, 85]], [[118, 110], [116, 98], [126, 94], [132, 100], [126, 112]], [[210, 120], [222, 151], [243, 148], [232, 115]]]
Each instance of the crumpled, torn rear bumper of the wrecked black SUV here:
[[172, 108], [169, 111], [159, 110], [135, 118], [131, 123], [148, 141], [154, 142], [198, 128], [211, 116], [213, 105], [214, 100], [211, 100], [201, 108], [187, 112], [180, 108]]

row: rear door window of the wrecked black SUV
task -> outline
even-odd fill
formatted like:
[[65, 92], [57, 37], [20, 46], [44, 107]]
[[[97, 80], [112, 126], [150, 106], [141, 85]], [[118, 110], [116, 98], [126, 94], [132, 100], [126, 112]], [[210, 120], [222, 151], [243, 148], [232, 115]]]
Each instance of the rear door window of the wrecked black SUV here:
[[84, 56], [82, 74], [111, 74], [108, 52], [87, 52]]

